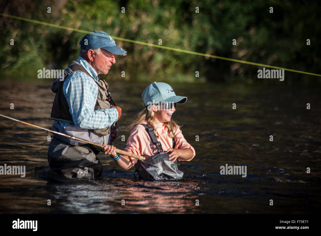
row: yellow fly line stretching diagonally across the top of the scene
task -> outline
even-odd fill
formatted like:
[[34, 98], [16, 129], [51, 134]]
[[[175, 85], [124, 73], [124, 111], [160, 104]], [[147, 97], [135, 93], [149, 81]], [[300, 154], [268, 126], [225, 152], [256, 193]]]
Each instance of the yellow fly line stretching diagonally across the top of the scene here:
[[[19, 16], [8, 15], [8, 14], [4, 14], [4, 13], [0, 13], [0, 15], [5, 16], [5, 17], [10, 17], [13, 19], [17, 19], [17, 20], [28, 21], [28, 22], [32, 22], [32, 23], [36, 23], [36, 24], [42, 24], [42, 25], [47, 25], [47, 26], [51, 26], [51, 27], [56, 27], [56, 28], [60, 28], [60, 29], [64, 29], [64, 30], [76, 31], [76, 32], [81, 32], [81, 33], [85, 33], [85, 34], [91, 33], [90, 31], [78, 30], [78, 29], [74, 29], [74, 28], [70, 28], [70, 27], [61, 26], [61, 25], [50, 24], [47, 22], [35, 21], [35, 20], [31, 20], [31, 19], [27, 19], [27, 18], [23, 18], [23, 17], [19, 17]], [[310, 75], [315, 75], [315, 76], [321, 77], [321, 74], [314, 74], [314, 73], [309, 73], [309, 72], [305, 72], [305, 71], [292, 70], [292, 69], [282, 68], [282, 67], [278, 67], [278, 66], [269, 66], [269, 65], [264, 65], [264, 64], [249, 62], [249, 61], [232, 59], [232, 58], [228, 58], [228, 57], [218, 57], [218, 56], [214, 56], [214, 55], [210, 55], [210, 54], [193, 52], [193, 51], [188, 51], [188, 50], [183, 50], [183, 49], [178, 49], [178, 48], [170, 48], [170, 47], [165, 47], [162, 45], [145, 43], [145, 42], [135, 41], [135, 40], [131, 40], [131, 39], [124, 39], [124, 38], [119, 38], [119, 37], [114, 37], [114, 36], [111, 36], [111, 37], [113, 39], [117, 39], [117, 40], [121, 40], [121, 41], [137, 43], [137, 44], [142, 44], [142, 45], [151, 46], [151, 47], [163, 48], [163, 49], [168, 49], [168, 50], [177, 51], [177, 52], [184, 52], [184, 53], [194, 54], [194, 55], [198, 55], [198, 56], [212, 57], [212, 58], [217, 58], [217, 59], [226, 60], [226, 61], [234, 61], [234, 62], [249, 64], [249, 65], [254, 65], [254, 66], [269, 67], [269, 68], [274, 68], [274, 69], [286, 70], [286, 71], [291, 71], [291, 72], [296, 72], [296, 73], [301, 73], [301, 74], [310, 74]]]

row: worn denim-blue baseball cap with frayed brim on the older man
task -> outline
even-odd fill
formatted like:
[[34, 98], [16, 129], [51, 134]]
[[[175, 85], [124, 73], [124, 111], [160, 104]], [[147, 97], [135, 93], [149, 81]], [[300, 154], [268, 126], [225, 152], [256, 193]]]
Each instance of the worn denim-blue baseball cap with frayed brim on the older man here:
[[84, 50], [102, 48], [116, 55], [126, 56], [126, 51], [116, 45], [115, 40], [103, 31], [93, 31], [80, 40], [80, 48]]

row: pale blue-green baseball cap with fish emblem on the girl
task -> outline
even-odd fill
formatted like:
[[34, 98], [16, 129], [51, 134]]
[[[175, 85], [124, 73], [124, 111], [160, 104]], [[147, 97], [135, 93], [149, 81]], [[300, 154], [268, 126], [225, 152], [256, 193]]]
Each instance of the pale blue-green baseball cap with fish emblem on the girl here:
[[167, 83], [154, 82], [144, 90], [142, 94], [144, 106], [156, 102], [185, 103], [187, 97], [176, 96], [172, 87]]

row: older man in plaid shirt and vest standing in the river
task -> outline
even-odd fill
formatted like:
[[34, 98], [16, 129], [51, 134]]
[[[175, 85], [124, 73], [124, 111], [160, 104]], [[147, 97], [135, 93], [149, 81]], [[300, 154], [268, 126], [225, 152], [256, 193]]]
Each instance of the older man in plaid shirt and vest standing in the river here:
[[[108, 84], [98, 74], [107, 74], [116, 63], [114, 55], [126, 55], [107, 33], [93, 31], [80, 41], [77, 61], [69, 63], [64, 77], [52, 84], [56, 93], [51, 118], [52, 130], [97, 144], [110, 144], [118, 136], [116, 121], [121, 108], [113, 106]], [[115, 105], [115, 104], [114, 104]], [[102, 165], [97, 154], [102, 149], [61, 135], [49, 144], [51, 168], [67, 178], [99, 177]]]

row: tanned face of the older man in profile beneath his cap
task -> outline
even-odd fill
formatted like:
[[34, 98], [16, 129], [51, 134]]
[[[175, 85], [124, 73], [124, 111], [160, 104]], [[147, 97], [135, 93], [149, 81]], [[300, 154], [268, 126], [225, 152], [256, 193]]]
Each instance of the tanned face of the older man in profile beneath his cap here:
[[92, 61], [92, 67], [97, 74], [108, 74], [110, 67], [116, 63], [114, 54], [100, 48], [100, 54], [95, 55]]

